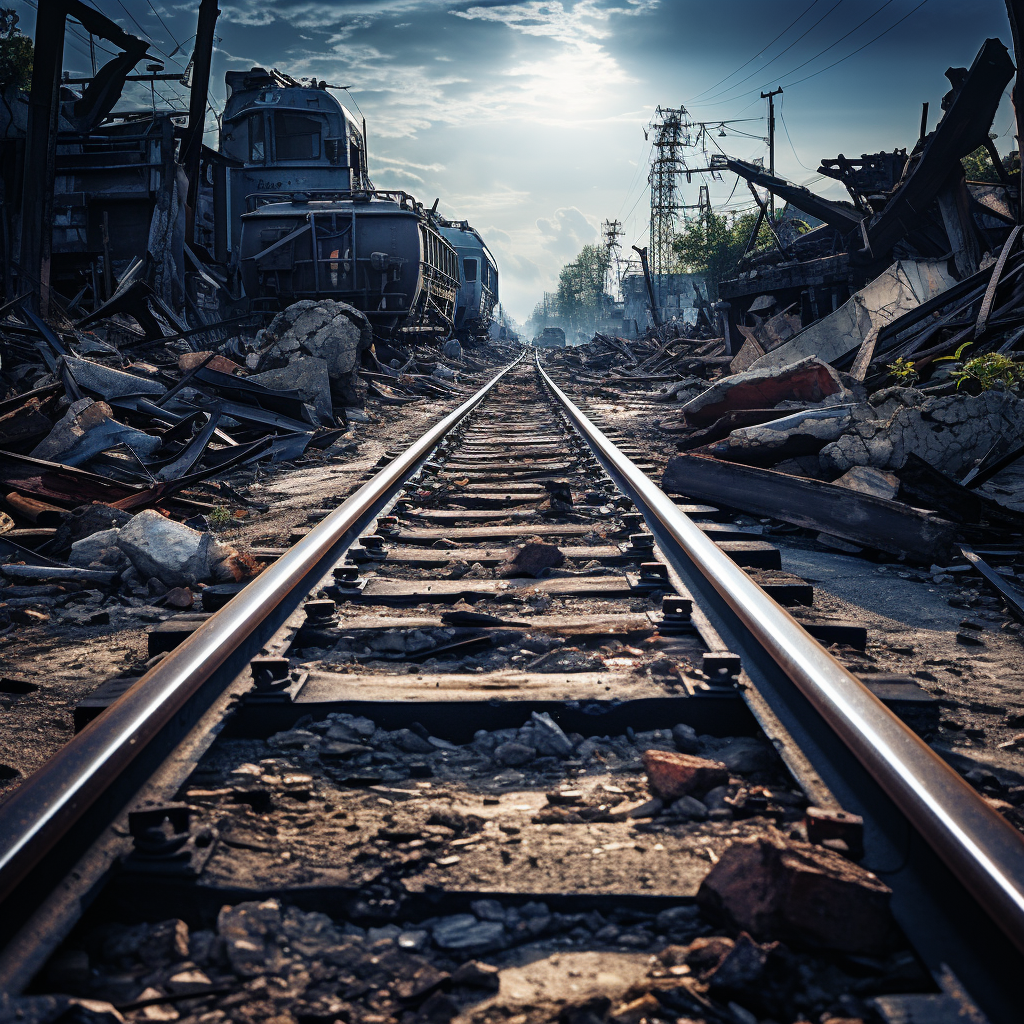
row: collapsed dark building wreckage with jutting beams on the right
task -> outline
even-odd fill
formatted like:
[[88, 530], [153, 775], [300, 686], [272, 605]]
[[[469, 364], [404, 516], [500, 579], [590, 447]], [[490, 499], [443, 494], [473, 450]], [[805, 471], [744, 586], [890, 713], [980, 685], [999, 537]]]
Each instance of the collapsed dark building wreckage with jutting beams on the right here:
[[[862, 379], [869, 368], [878, 370], [891, 358], [886, 329], [897, 315], [933, 301], [941, 307], [941, 294], [947, 300], [968, 294], [967, 283], [994, 259], [986, 254], [999, 253], [1018, 221], [1019, 172], [1004, 166], [988, 134], [1014, 72], [1006, 46], [986, 40], [970, 69], [946, 72], [950, 89], [942, 100], [943, 115], [931, 132], [923, 118], [921, 137], [909, 154], [897, 150], [823, 160], [818, 173], [841, 181], [849, 202], [823, 199], [752, 163], [713, 158], [714, 167], [744, 179], [758, 202], [752, 241], [763, 223], [773, 237], [770, 251], [745, 256], [740, 272], [719, 287], [730, 350], [745, 349], [738, 369], [762, 359], [802, 328], [845, 316], [845, 331], [830, 322], [814, 344], [826, 344], [824, 335], [837, 328], [855, 338], [855, 345], [837, 350], [839, 343], [821, 354], [841, 370], [853, 369], [856, 360]], [[992, 158], [996, 183], [966, 177], [962, 160], [980, 146]], [[776, 229], [755, 186], [817, 226], [802, 234]], [[847, 313], [841, 315], [844, 306]], [[865, 316], [874, 329], [872, 347], [855, 351], [863, 339], [849, 325]]]

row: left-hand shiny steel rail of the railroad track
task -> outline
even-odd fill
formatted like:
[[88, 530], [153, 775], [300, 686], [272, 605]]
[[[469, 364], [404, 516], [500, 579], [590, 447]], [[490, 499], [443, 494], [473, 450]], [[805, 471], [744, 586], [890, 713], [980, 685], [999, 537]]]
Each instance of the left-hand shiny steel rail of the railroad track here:
[[[299, 589], [303, 582], [307, 586], [315, 582], [341, 557], [344, 547], [397, 493], [445, 434], [522, 357], [496, 374], [359, 487], [0, 804], [0, 901], [54, 849], [105, 790], [123, 777], [146, 744], [255, 631], [290, 599], [296, 603], [301, 600], [304, 591]], [[229, 680], [224, 682], [226, 685]], [[139, 779], [139, 785], [143, 781]]]

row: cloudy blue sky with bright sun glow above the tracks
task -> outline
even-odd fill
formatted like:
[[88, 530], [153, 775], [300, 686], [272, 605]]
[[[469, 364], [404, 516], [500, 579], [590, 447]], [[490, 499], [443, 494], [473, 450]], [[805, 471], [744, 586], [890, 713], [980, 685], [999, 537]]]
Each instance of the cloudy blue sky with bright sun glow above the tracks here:
[[[32, 33], [35, 0], [8, 2]], [[187, 62], [198, 0], [89, 2], [151, 40], [168, 71]], [[909, 150], [922, 102], [929, 127], [941, 113], [946, 69], [970, 67], [988, 37], [1011, 45], [1002, 0], [220, 0], [220, 10], [212, 102], [224, 72], [254, 65], [349, 86], [336, 95], [367, 119], [375, 184], [468, 219], [519, 322], [599, 242], [603, 220], [623, 222], [624, 254], [647, 243], [645, 132], [658, 105], [708, 122], [709, 153], [767, 164], [760, 93], [781, 87], [777, 173], [842, 198], [819, 160]], [[65, 69], [88, 73], [80, 29]], [[150, 101], [148, 86], [133, 89], [127, 100]], [[159, 89], [159, 105], [187, 104], [176, 83]], [[1008, 89], [992, 126], [1000, 153], [1016, 148], [1013, 123]], [[685, 158], [707, 167], [699, 147]], [[692, 175], [684, 203], [701, 183], [716, 208], [751, 208], [727, 172]]]

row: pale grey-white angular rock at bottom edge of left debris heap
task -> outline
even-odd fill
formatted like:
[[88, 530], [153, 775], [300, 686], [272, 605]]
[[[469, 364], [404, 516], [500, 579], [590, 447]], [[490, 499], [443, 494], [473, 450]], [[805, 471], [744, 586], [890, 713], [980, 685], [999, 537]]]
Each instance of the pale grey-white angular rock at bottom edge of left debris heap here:
[[145, 509], [118, 531], [118, 547], [143, 579], [185, 587], [201, 581], [233, 579], [220, 566], [237, 555], [212, 534], [201, 534]]

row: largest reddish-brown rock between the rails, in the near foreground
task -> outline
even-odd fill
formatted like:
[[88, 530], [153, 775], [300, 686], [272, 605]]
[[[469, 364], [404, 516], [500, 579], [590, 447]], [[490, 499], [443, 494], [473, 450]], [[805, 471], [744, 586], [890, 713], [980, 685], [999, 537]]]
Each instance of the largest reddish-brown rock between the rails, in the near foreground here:
[[770, 831], [729, 846], [701, 883], [697, 902], [758, 937], [872, 954], [892, 942], [891, 895], [839, 853]]

